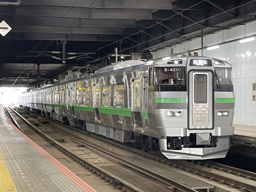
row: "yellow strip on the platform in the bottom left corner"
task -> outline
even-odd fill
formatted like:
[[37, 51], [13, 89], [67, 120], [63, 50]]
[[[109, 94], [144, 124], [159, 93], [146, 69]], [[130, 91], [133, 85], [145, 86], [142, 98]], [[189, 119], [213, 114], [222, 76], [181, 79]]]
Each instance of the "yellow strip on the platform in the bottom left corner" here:
[[0, 151], [0, 192], [17, 192], [9, 170]]

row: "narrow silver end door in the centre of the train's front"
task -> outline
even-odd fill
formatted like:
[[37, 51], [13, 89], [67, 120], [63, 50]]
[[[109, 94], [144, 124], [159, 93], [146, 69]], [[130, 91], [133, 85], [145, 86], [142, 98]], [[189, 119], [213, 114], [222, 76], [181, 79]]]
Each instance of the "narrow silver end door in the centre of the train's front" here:
[[189, 73], [189, 129], [212, 129], [213, 127], [213, 74]]

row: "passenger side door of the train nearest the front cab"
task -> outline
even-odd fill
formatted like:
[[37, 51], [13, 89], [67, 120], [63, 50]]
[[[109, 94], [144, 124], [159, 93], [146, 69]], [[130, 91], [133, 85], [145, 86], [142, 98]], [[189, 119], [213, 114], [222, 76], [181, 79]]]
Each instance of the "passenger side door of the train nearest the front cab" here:
[[144, 97], [143, 92], [144, 92], [144, 89], [143, 89], [141, 80], [134, 79], [133, 80], [132, 116], [133, 116], [134, 129], [140, 130], [140, 133], [145, 133], [144, 122], [143, 122], [143, 113], [142, 113], [142, 109], [144, 106], [144, 103], [142, 102], [142, 99]]

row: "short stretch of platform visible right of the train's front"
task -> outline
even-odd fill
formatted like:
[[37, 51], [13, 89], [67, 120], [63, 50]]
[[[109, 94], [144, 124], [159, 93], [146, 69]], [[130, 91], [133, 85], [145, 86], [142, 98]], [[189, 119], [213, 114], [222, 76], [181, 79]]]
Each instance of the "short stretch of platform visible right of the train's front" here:
[[233, 126], [235, 127], [235, 133], [231, 136], [231, 141], [256, 145], [256, 127], [246, 125]]

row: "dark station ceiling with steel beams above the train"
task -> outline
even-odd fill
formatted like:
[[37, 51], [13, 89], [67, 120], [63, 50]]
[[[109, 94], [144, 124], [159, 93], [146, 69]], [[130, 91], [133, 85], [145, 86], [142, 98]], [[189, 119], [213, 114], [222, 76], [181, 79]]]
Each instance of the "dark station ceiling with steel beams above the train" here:
[[255, 17], [256, 0], [0, 0], [0, 23], [12, 28], [0, 35], [0, 86], [37, 85], [73, 66], [104, 66], [115, 47], [146, 55]]

